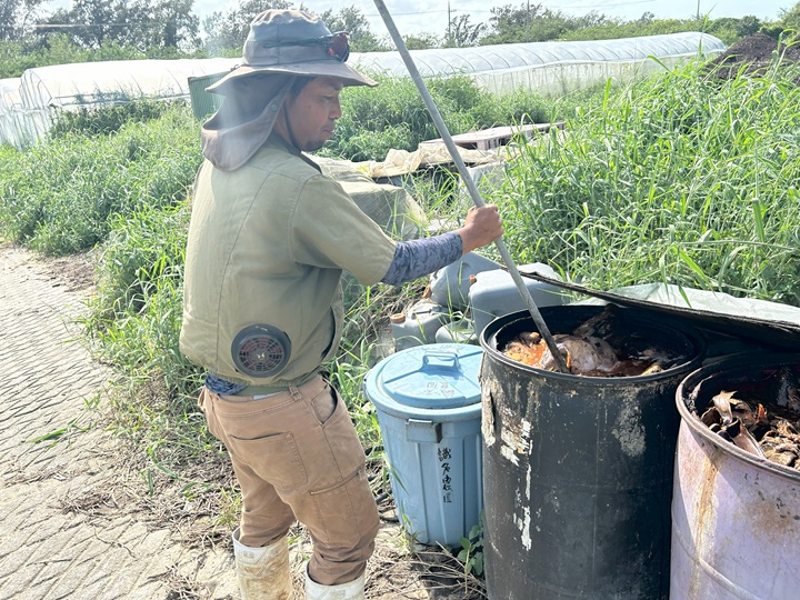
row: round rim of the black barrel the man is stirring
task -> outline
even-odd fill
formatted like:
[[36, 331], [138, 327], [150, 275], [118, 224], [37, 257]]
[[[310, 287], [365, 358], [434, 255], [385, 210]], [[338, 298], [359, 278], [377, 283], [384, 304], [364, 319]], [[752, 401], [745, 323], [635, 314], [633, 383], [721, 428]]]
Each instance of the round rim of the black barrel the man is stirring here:
[[[604, 306], [603, 304], [563, 304], [563, 306], [557, 306], [557, 307], [542, 307], [541, 311], [547, 312], [557, 312], [557, 311], [564, 311], [564, 310], [573, 310], [573, 309], [597, 309], [597, 311], [601, 311]], [[631, 310], [626, 307], [619, 307], [620, 310]], [[657, 328], [657, 329], [663, 329], [666, 326], [661, 322], [658, 322], [653, 319], [651, 319], [649, 316], [642, 312], [636, 312], [636, 319], [647, 322], [649, 326]], [[490, 322], [486, 328], [483, 328], [483, 331], [481, 331], [480, 334], [480, 344], [481, 348], [483, 348], [483, 356], [491, 357], [492, 360], [497, 360], [499, 362], [502, 362], [504, 366], [517, 369], [519, 371], [526, 371], [530, 374], [540, 376], [544, 378], [552, 378], [557, 380], [563, 380], [563, 381], [591, 381], [592, 383], [597, 382], [598, 386], [604, 386], [604, 387], [616, 387], [620, 384], [630, 384], [630, 383], [640, 383], [640, 382], [650, 382], [650, 381], [659, 381], [661, 379], [668, 379], [671, 377], [674, 377], [676, 374], [680, 373], [681, 371], [690, 371], [694, 364], [699, 364], [703, 356], [706, 353], [706, 338], [694, 331], [692, 328], [689, 328], [680, 322], [672, 322], [669, 323], [669, 329], [674, 329], [676, 331], [679, 331], [681, 336], [686, 339], [686, 341], [692, 346], [696, 350], [694, 356], [688, 358], [684, 362], [681, 362], [679, 364], [674, 364], [670, 367], [669, 369], [664, 371], [660, 371], [658, 373], [651, 373], [647, 376], [633, 376], [633, 377], [587, 377], [587, 376], [580, 376], [580, 374], [572, 374], [572, 373], [560, 373], [557, 371], [548, 371], [547, 369], [539, 369], [537, 367], [531, 367], [530, 364], [524, 364], [522, 362], [512, 360], [508, 358], [506, 354], [500, 352], [497, 349], [497, 336], [498, 333], [506, 327], [516, 323], [518, 321], [531, 321], [531, 324], [533, 326], [533, 329], [536, 329], [534, 323], [532, 322], [533, 319], [527, 310], [521, 310], [517, 312], [511, 312], [509, 314], [506, 314], [503, 317], [499, 317], [494, 319], [492, 322]], [[490, 343], [490, 341], [493, 341], [494, 343]]]

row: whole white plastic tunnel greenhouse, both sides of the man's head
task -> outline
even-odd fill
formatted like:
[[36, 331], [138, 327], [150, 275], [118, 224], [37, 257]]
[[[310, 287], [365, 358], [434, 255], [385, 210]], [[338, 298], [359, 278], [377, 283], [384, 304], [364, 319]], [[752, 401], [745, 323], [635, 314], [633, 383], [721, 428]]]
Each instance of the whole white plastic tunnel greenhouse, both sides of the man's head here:
[[[712, 36], [687, 32], [602, 41], [412, 50], [411, 56], [423, 77], [467, 74], [494, 93], [524, 88], [560, 94], [608, 79], [629, 80], [663, 68], [661, 64], [673, 67], [724, 50], [724, 43]], [[216, 103], [202, 88], [211, 82], [211, 76], [232, 69], [240, 60], [129, 60], [28, 69], [19, 79], [0, 80], [0, 143], [22, 148], [41, 139], [60, 111], [134, 98], [186, 101], [191, 98], [193, 106], [213, 110]], [[408, 76], [397, 51], [353, 53], [349, 64], [368, 72]], [[190, 79], [196, 86], [190, 86]]]

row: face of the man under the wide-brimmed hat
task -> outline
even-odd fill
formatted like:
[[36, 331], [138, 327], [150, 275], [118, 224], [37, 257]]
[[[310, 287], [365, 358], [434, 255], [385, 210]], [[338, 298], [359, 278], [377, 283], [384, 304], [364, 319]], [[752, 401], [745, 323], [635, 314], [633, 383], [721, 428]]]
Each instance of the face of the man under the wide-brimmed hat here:
[[336, 120], [341, 117], [339, 92], [342, 87], [339, 79], [318, 77], [297, 97], [287, 98], [283, 108], [299, 150], [319, 150], [333, 134]]

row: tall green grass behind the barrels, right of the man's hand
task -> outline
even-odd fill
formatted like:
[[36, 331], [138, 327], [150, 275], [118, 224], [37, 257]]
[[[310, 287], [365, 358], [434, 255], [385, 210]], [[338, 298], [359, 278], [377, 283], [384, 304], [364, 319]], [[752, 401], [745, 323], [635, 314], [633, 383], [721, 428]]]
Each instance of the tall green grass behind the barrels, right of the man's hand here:
[[492, 194], [521, 262], [599, 289], [650, 281], [800, 304], [794, 69], [697, 64], [578, 112]]

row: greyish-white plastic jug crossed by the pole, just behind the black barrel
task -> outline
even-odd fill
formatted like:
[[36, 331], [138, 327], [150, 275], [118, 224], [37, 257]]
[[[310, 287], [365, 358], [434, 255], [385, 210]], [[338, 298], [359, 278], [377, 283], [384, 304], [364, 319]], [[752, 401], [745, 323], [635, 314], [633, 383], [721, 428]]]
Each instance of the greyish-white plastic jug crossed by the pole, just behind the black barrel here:
[[[551, 279], [560, 279], [551, 267], [539, 262], [521, 266], [519, 270], [537, 271]], [[557, 307], [567, 303], [567, 297], [560, 288], [536, 279], [524, 279], [537, 307]], [[474, 280], [469, 288], [469, 301], [478, 337], [496, 318], [528, 308], [511, 273], [502, 269], [482, 271], [476, 274]]]

